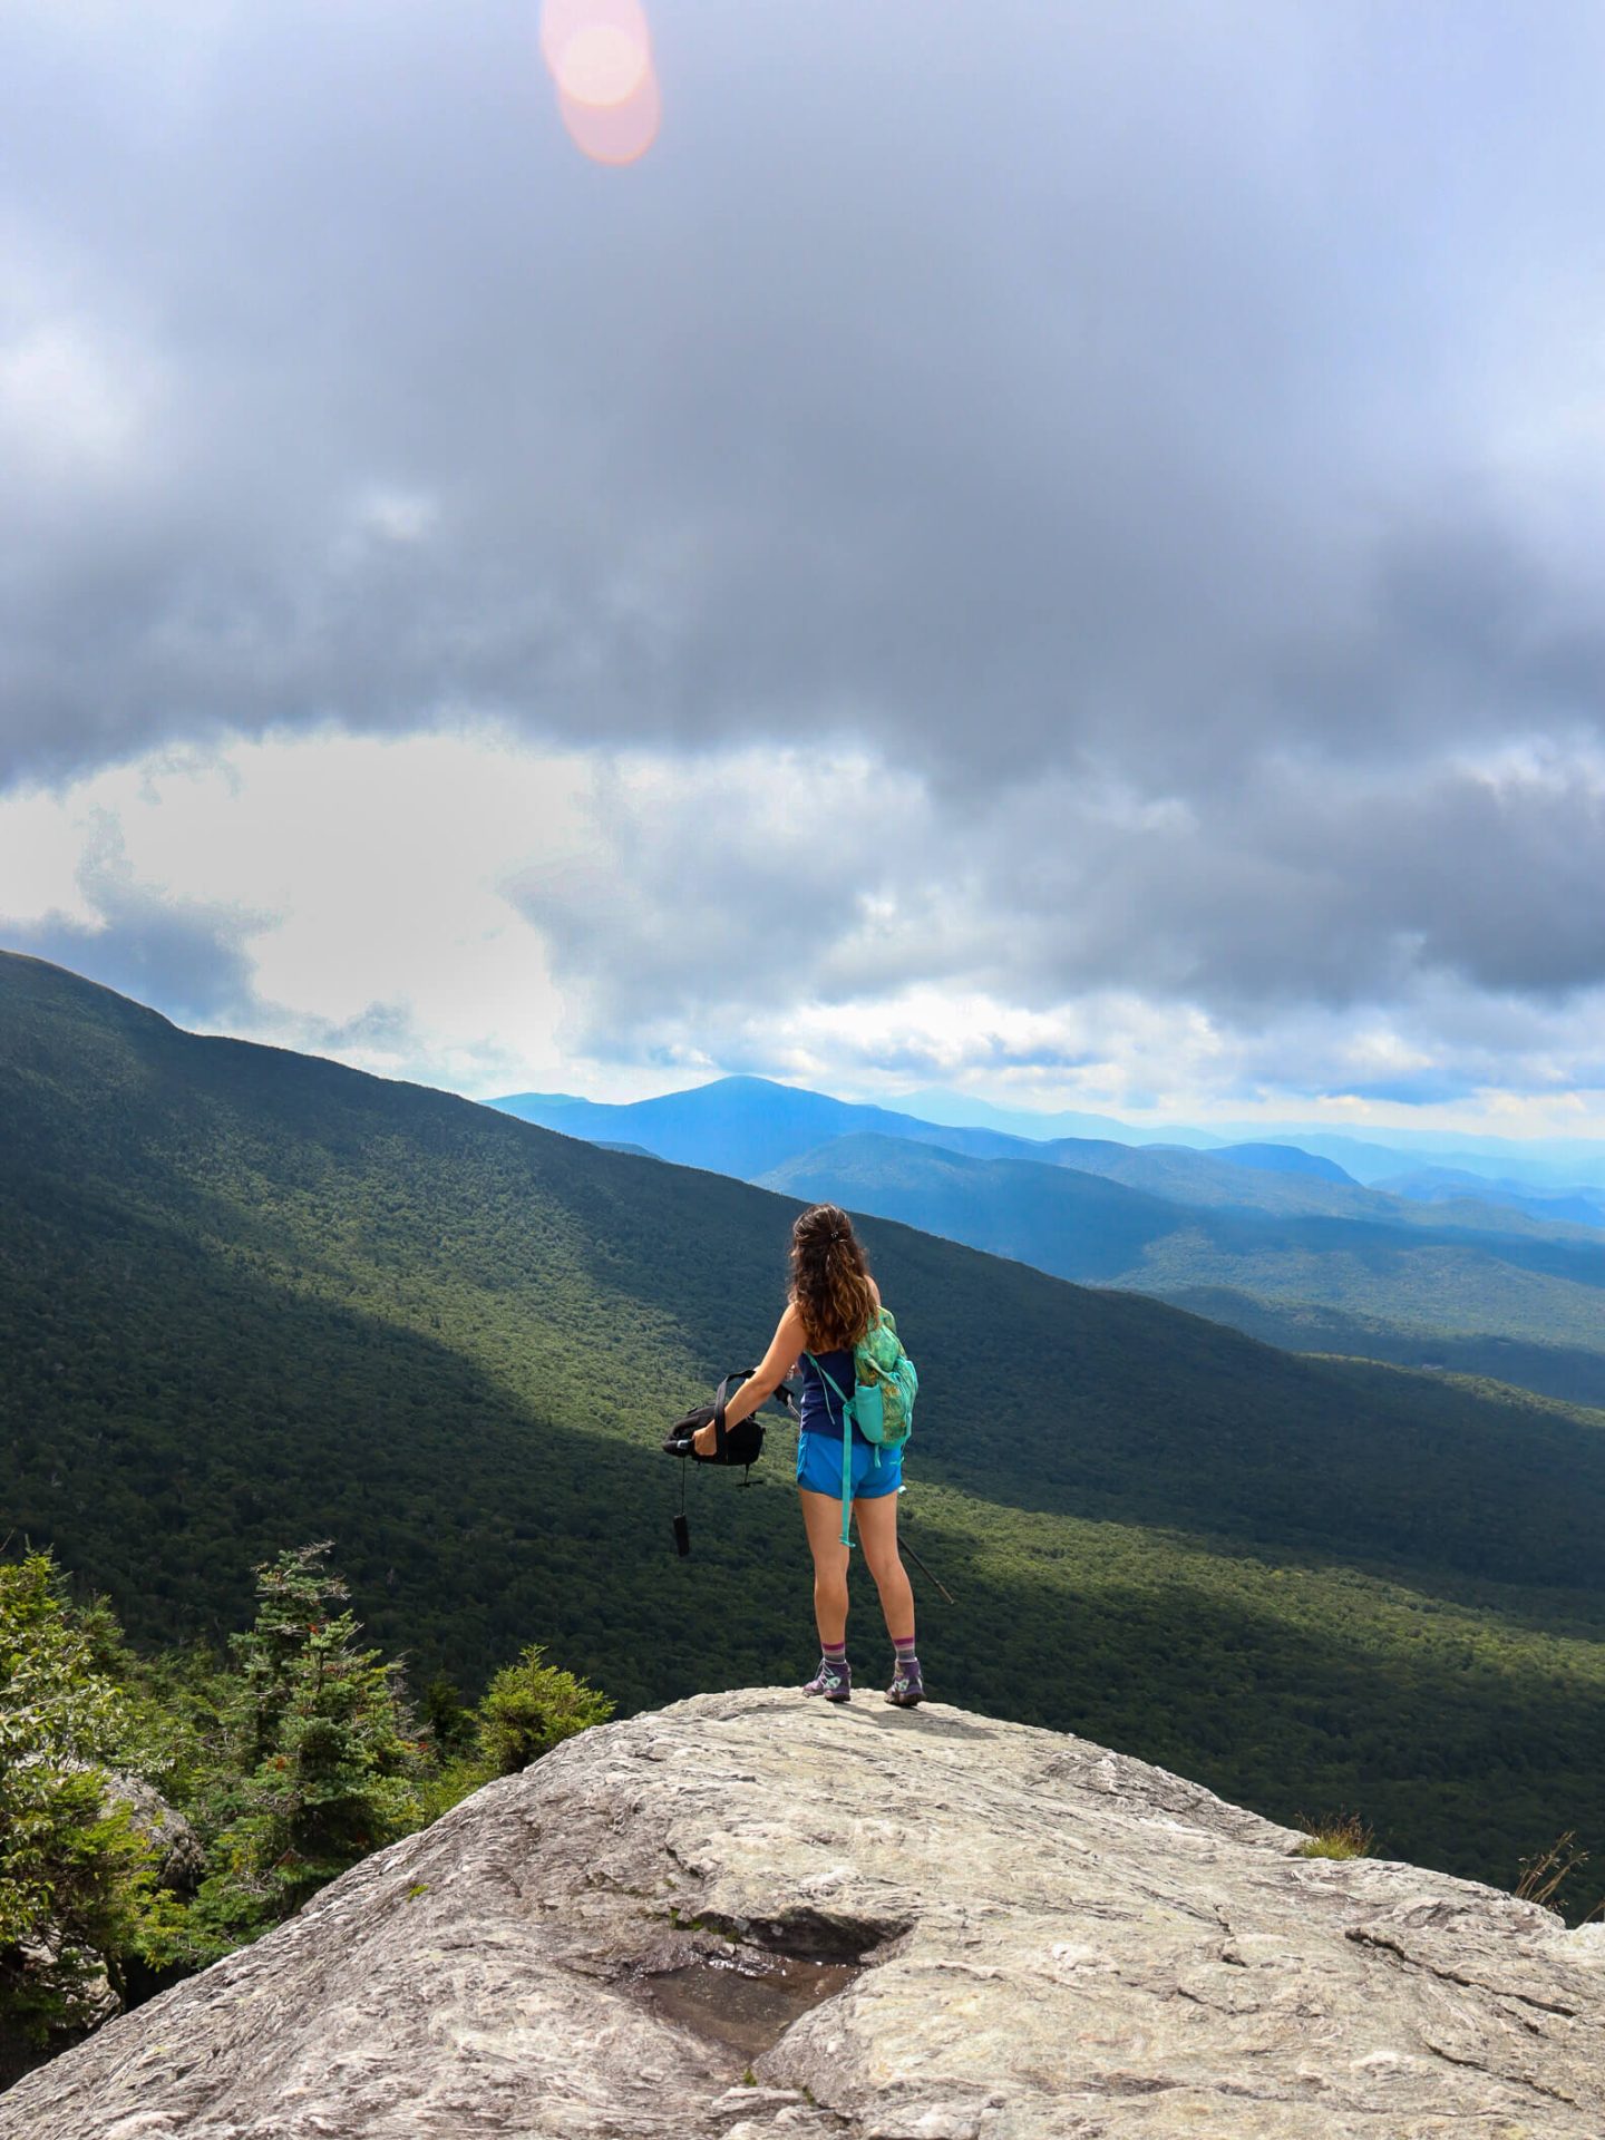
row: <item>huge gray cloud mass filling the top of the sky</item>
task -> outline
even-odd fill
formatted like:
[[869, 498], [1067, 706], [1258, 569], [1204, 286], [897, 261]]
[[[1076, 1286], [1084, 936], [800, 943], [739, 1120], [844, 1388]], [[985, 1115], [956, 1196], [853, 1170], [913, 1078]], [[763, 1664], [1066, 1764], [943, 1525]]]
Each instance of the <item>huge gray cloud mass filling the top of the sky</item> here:
[[0, 118], [75, 340], [17, 317], [0, 379], [137, 321], [165, 392], [141, 482], [9, 582], [4, 768], [473, 708], [1166, 790], [1596, 728], [1605, 439], [1562, 458], [1524, 381], [1586, 398], [1599, 30], [1515, 21], [708, 0], [601, 173], [520, 11], [21, 9]]

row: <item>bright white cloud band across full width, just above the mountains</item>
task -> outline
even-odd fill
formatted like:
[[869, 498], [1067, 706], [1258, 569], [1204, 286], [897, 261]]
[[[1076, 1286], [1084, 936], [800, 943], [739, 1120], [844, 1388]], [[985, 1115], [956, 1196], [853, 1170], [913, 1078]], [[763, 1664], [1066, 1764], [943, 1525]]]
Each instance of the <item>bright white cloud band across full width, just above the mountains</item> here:
[[[1532, 785], [1526, 760], [1500, 777]], [[1089, 918], [1121, 856], [1138, 886], [1132, 845], [1207, 828], [1094, 785], [1012, 809], [862, 751], [272, 736], [0, 798], [0, 935], [184, 1023], [473, 1096], [753, 1070], [1134, 1119], [1605, 1132], [1605, 989], [1526, 1002], [1419, 972], [1233, 1010], [1098, 959], [1055, 984], [1055, 931], [1164, 920], [1151, 899]]]

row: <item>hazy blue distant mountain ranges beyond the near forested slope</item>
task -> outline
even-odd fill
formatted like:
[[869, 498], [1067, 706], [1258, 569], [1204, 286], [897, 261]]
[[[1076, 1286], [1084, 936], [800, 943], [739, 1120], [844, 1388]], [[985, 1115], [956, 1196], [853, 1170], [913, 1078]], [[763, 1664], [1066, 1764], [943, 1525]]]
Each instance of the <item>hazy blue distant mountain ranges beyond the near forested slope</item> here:
[[[496, 1106], [781, 1194], [837, 1196], [1293, 1350], [1434, 1363], [1605, 1404], [1605, 1230], [1588, 1192], [1562, 1205], [1489, 1183], [1483, 1196], [1472, 1173], [1438, 1183], [1406, 1171], [1393, 1194], [1290, 1145], [1027, 1138], [753, 1076], [623, 1106], [565, 1094]], [[1357, 1149], [1376, 1166], [1376, 1151]]]

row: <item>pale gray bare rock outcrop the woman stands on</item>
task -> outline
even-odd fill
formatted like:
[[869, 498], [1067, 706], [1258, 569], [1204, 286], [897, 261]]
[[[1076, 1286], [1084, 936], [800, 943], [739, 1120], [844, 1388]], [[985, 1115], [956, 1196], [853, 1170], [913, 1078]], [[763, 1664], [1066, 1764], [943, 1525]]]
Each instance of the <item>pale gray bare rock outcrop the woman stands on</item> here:
[[1085, 1740], [586, 1731], [0, 2099], [0, 2140], [1599, 2140], [1605, 1928]]

